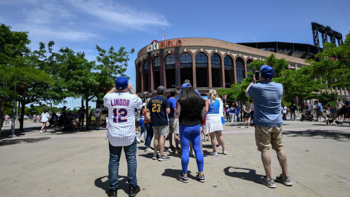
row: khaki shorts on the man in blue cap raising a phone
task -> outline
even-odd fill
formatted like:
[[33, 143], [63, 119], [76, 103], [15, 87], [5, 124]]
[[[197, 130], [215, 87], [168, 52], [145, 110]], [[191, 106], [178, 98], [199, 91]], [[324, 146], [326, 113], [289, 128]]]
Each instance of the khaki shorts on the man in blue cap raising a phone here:
[[255, 125], [255, 143], [260, 152], [268, 151], [270, 144], [274, 150], [283, 150], [282, 127]]

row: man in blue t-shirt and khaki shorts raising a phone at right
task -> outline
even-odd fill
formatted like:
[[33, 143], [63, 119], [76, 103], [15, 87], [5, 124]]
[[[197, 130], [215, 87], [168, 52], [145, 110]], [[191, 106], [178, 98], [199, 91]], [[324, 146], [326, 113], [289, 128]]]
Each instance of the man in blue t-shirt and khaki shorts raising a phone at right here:
[[277, 152], [277, 158], [282, 168], [282, 174], [276, 180], [284, 185], [292, 186], [292, 181], [287, 172], [287, 156], [283, 150], [281, 98], [283, 95], [282, 84], [272, 82], [275, 71], [272, 67], [262, 65], [260, 68], [260, 83], [256, 83], [255, 77], [245, 90], [245, 96], [253, 97], [255, 104], [254, 124], [255, 142], [261, 151], [262, 164], [266, 176], [260, 178], [260, 182], [270, 188], [276, 188], [271, 173], [271, 156], [268, 152], [270, 145]]

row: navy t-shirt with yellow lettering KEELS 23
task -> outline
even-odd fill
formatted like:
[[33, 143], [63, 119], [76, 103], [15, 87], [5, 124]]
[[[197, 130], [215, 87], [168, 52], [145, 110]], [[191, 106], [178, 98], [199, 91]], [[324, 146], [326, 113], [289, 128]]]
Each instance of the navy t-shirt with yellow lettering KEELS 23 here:
[[155, 96], [150, 99], [147, 108], [151, 111], [152, 126], [168, 125], [168, 117], [165, 112], [166, 108], [170, 108], [168, 99], [163, 96]]

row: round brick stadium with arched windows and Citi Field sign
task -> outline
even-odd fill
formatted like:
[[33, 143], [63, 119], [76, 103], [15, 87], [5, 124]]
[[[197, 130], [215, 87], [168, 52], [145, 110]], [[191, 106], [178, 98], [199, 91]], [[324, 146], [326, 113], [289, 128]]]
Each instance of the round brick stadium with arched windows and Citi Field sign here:
[[[247, 65], [264, 60], [270, 54], [285, 58], [289, 69], [298, 69], [305, 59], [314, 57], [314, 45], [290, 42], [231, 43], [223, 40], [186, 37], [152, 41], [143, 47], [135, 60], [136, 90], [156, 94], [158, 86], [170, 90], [181, 89], [185, 79], [202, 95], [212, 88], [229, 88], [241, 82], [253, 69]], [[339, 94], [345, 94], [339, 90]]]

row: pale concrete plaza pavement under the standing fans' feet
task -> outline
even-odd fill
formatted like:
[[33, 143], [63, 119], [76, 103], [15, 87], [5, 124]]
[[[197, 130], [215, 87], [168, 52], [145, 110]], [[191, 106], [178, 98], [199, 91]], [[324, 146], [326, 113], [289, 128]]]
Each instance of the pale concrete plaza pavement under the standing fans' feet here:
[[[63, 133], [56, 129], [40, 134], [39, 124], [26, 123], [20, 137], [1, 140], [0, 197], [100, 197], [108, 189], [108, 141], [106, 130]], [[205, 183], [194, 179], [195, 158], [190, 159], [189, 183], [176, 180], [181, 172], [181, 154], [169, 153], [169, 161], [154, 161], [138, 144], [140, 197], [347, 197], [350, 194], [350, 127], [322, 122], [285, 121], [284, 148], [294, 185], [276, 183], [276, 189], [260, 184], [264, 175], [254, 127], [238, 128], [226, 123], [227, 155], [205, 159]], [[9, 127], [3, 127], [9, 129]], [[142, 137], [141, 137], [142, 139]], [[169, 146], [169, 142], [166, 142]], [[210, 142], [203, 143], [211, 151]], [[281, 172], [276, 153], [273, 176]], [[122, 154], [120, 197], [126, 197], [127, 168]]]

